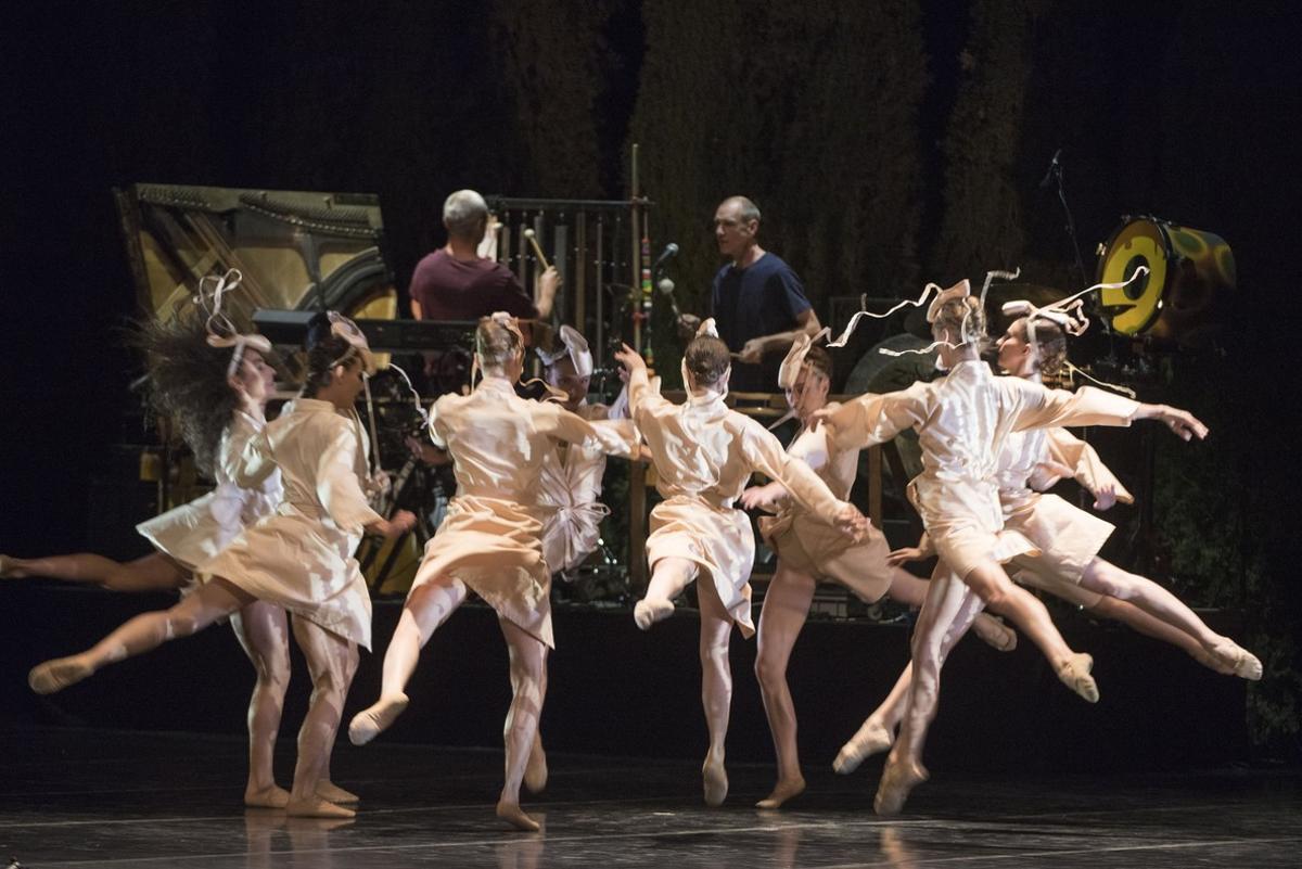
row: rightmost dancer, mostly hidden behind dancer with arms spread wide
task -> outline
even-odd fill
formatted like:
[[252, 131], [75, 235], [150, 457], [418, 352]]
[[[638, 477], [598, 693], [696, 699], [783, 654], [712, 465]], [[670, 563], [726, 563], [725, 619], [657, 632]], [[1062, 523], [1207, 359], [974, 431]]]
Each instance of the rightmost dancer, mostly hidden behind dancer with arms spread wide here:
[[[1066, 356], [1065, 324], [1065, 315], [1053, 311], [1036, 311], [1014, 320], [997, 342], [1000, 368], [1034, 382], [1039, 382], [1042, 373], [1055, 375]], [[1094, 494], [1098, 510], [1107, 510], [1117, 501], [1131, 502], [1130, 493], [1094, 448], [1062, 428], [1012, 432], [1004, 440], [997, 475], [1004, 527], [1021, 532], [1038, 549], [1009, 563], [1017, 583], [1170, 643], [1217, 673], [1260, 679], [1262, 665], [1251, 653], [1211, 631], [1170, 592], [1099, 558], [1113, 531], [1109, 523], [1055, 494], [1039, 492], [1062, 476], [1072, 476]], [[904, 563], [930, 554], [924, 535], [919, 546], [897, 550], [891, 561]], [[904, 714], [910, 675], [911, 669], [906, 667], [887, 700], [841, 748], [835, 764], [838, 773], [850, 773], [866, 757], [891, 747]]]

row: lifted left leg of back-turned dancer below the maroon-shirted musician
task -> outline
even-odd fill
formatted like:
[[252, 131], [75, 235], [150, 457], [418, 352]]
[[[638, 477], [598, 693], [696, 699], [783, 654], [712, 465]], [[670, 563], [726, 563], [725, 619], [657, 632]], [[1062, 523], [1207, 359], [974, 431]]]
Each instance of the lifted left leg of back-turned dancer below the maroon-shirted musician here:
[[452, 611], [465, 602], [467, 593], [466, 584], [460, 579], [436, 576], [408, 595], [384, 653], [380, 699], [353, 715], [348, 726], [348, 738], [354, 745], [365, 745], [379, 736], [406, 709], [406, 683], [415, 673], [421, 649]]

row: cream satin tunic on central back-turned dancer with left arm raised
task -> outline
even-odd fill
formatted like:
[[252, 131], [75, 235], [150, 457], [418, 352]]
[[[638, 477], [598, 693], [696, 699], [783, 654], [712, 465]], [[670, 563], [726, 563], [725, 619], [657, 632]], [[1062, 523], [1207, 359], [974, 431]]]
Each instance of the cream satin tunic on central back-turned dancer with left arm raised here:
[[750, 572], [755, 535], [733, 506], [759, 471], [780, 481], [820, 522], [832, 524], [846, 506], [754, 419], [732, 411], [724, 394], [706, 392], [673, 405], [651, 389], [644, 371], [629, 379], [633, 421], [651, 450], [656, 489], [647, 559], [686, 558], [706, 571], [719, 600], [745, 636], [755, 632]]

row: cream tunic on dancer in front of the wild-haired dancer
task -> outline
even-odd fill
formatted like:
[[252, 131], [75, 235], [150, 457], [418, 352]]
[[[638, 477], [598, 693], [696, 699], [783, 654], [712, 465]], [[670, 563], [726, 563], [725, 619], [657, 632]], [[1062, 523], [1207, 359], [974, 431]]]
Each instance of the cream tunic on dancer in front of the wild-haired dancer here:
[[284, 500], [198, 568], [285, 608], [345, 640], [371, 648], [371, 596], [353, 558], [363, 528], [380, 515], [367, 503], [368, 442], [355, 414], [298, 398], [250, 438], [234, 480], [260, 485], [279, 468]]

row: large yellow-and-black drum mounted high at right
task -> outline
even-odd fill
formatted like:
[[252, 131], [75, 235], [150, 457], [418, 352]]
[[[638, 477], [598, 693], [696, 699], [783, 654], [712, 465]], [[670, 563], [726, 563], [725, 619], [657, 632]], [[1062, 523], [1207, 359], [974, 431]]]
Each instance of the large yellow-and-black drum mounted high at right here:
[[1120, 284], [1141, 265], [1148, 273], [1100, 294], [1112, 328], [1157, 343], [1206, 345], [1217, 301], [1234, 289], [1234, 254], [1220, 235], [1156, 217], [1124, 217], [1099, 246], [1099, 282]]

